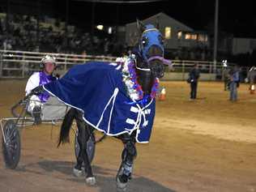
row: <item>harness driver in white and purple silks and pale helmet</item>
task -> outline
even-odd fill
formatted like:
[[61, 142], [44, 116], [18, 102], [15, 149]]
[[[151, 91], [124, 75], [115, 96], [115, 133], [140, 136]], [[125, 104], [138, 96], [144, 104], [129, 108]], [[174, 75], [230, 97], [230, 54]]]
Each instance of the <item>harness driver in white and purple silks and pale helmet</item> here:
[[[53, 76], [53, 70], [56, 68], [56, 61], [50, 55], [46, 55], [41, 59], [40, 63], [41, 71], [36, 72], [30, 76], [26, 85], [26, 96], [32, 92], [32, 89], [43, 85], [45, 83], [52, 82], [57, 78]], [[34, 117], [36, 124], [41, 123], [41, 107], [49, 99], [49, 93], [42, 92], [39, 95], [32, 95], [28, 104], [28, 112]]]

